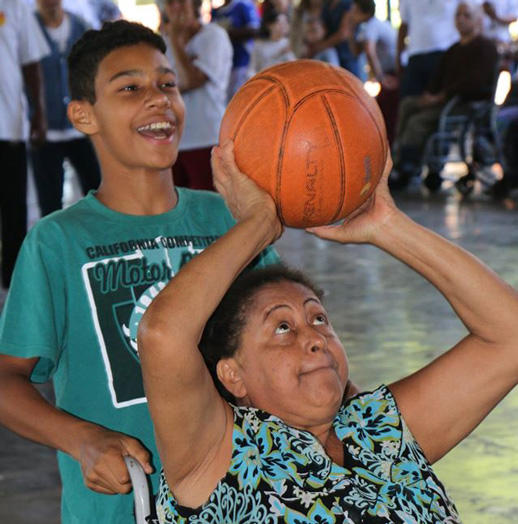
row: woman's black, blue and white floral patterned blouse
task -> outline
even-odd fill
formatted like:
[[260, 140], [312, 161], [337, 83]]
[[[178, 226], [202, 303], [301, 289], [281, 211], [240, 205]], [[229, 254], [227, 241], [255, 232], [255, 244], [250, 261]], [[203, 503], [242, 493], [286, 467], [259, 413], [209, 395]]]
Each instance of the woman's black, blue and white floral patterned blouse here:
[[233, 410], [229, 471], [196, 509], [176, 503], [162, 473], [161, 524], [460, 523], [386, 386], [338, 412], [343, 467], [311, 433], [258, 409]]

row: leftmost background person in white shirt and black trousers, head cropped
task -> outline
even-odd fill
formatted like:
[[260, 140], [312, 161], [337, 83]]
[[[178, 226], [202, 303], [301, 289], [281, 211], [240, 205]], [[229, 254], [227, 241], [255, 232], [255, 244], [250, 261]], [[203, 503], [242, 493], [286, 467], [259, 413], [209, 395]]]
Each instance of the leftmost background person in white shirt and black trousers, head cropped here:
[[[27, 232], [26, 141], [45, 139], [38, 62], [50, 51], [34, 15], [20, 0], [0, 0], [0, 49], [0, 222], [2, 285], [7, 288]], [[30, 123], [24, 88], [32, 102]]]

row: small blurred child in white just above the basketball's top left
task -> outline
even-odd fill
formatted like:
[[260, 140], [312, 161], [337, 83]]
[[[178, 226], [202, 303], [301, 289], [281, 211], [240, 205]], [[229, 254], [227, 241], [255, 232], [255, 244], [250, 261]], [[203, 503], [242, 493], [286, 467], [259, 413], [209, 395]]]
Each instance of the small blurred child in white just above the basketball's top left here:
[[249, 78], [275, 64], [295, 60], [288, 38], [289, 30], [286, 14], [271, 9], [263, 15], [260, 38], [255, 41], [248, 66]]

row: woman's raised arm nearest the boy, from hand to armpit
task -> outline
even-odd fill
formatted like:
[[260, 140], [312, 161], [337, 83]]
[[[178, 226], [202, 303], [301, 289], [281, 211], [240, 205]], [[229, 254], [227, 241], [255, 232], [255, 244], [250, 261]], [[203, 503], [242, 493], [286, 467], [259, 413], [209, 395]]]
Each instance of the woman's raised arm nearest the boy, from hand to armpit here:
[[166, 478], [178, 502], [189, 506], [203, 503], [226, 471], [233, 425], [198, 350], [203, 329], [234, 279], [282, 232], [272, 199], [237, 170], [231, 143], [216, 149], [213, 171], [238, 223], [167, 284], [138, 332]]

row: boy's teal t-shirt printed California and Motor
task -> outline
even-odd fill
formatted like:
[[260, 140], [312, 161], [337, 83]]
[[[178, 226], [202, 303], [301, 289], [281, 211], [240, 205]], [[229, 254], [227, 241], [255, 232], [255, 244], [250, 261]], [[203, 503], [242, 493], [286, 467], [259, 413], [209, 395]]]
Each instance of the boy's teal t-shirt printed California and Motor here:
[[[40, 220], [20, 251], [0, 319], [0, 352], [39, 357], [31, 379], [54, 381], [57, 406], [139, 439], [160, 471], [136, 335], [147, 306], [186, 262], [234, 220], [221, 197], [178, 188], [160, 215], [113, 211], [88, 194]], [[278, 262], [266, 250], [254, 263]], [[79, 463], [58, 452], [62, 524], [130, 524], [133, 496], [84, 486]], [[158, 473], [152, 477], [158, 489]]]

